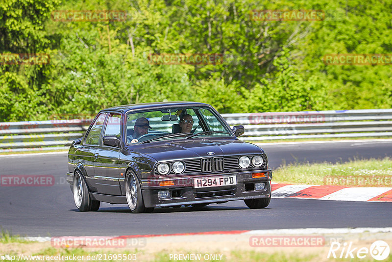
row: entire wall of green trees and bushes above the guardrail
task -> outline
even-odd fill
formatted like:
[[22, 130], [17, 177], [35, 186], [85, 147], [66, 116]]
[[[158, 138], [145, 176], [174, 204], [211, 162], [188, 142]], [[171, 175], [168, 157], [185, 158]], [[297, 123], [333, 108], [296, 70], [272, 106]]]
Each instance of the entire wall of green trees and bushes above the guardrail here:
[[[5, 0], [0, 121], [123, 104], [199, 101], [221, 113], [390, 108], [388, 65], [325, 65], [330, 53], [391, 53], [392, 0]], [[323, 21], [253, 21], [250, 10], [319, 9]], [[125, 21], [62, 22], [53, 10], [124, 10]], [[222, 63], [154, 65], [151, 53], [220, 53]]]

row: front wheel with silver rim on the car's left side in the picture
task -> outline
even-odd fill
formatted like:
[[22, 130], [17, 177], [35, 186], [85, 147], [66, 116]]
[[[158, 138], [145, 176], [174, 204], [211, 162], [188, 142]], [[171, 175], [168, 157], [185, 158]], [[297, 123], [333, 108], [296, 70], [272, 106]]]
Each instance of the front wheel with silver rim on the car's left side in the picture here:
[[143, 203], [142, 188], [140, 187], [139, 179], [132, 171], [126, 173], [125, 178], [125, 195], [126, 202], [132, 213], [144, 213], [152, 210], [146, 209]]

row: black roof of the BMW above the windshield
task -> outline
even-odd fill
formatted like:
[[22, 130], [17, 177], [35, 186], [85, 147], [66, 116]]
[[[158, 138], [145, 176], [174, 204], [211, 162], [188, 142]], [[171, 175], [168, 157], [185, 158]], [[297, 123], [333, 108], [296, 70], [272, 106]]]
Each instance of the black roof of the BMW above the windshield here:
[[197, 103], [197, 102], [188, 102], [188, 101], [177, 101], [177, 102], [155, 102], [155, 103], [143, 103], [143, 104], [131, 104], [131, 105], [119, 105], [113, 106], [101, 111], [106, 110], [116, 110], [127, 112], [129, 110], [140, 110], [140, 109], [162, 109], [163, 107], [172, 107], [172, 106], [208, 106], [211, 105], [204, 104], [204, 103]]

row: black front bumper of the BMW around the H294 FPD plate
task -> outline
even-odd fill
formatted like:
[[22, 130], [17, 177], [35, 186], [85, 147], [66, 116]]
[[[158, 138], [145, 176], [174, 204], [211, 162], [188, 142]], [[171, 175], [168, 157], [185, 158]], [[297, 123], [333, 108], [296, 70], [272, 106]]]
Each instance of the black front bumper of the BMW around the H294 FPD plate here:
[[[264, 177], [252, 178], [252, 173], [265, 173]], [[195, 188], [195, 178], [209, 178], [236, 175], [237, 184]], [[192, 205], [202, 203], [222, 203], [232, 200], [269, 198], [271, 196], [272, 171], [262, 170], [253, 172], [237, 172], [214, 175], [196, 175], [159, 180], [141, 180], [142, 194], [146, 208], [170, 207], [176, 205]], [[160, 186], [159, 182], [172, 181], [173, 185]], [[265, 183], [264, 189], [255, 190], [255, 183]], [[161, 199], [159, 191], [169, 190], [170, 197]]]

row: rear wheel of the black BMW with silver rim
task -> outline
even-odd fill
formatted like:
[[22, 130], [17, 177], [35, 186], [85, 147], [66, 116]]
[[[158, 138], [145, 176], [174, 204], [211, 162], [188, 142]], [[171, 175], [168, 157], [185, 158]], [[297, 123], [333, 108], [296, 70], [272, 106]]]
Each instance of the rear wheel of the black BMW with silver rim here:
[[73, 176], [73, 200], [79, 211], [97, 211], [99, 209], [100, 202], [90, 198], [89, 189], [79, 170], [76, 170]]

